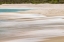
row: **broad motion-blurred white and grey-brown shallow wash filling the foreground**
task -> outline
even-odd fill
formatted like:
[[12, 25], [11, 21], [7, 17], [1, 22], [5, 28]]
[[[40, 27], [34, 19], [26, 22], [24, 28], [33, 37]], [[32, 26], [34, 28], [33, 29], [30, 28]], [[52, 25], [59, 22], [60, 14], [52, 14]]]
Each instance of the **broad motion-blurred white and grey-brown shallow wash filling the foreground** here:
[[17, 42], [36, 42], [46, 37], [64, 36], [64, 19], [62, 18], [19, 21], [20, 19], [0, 19], [0, 40], [16, 42], [14, 39], [17, 39]]

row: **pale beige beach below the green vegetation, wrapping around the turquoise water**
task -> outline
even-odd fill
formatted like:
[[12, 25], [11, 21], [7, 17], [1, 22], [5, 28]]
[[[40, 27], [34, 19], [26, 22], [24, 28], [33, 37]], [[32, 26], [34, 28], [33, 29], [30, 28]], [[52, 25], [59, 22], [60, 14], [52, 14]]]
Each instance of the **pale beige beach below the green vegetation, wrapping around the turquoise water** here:
[[2, 9], [31, 9], [19, 11], [21, 14], [43, 14], [46, 16], [64, 16], [64, 4], [2, 4]]

